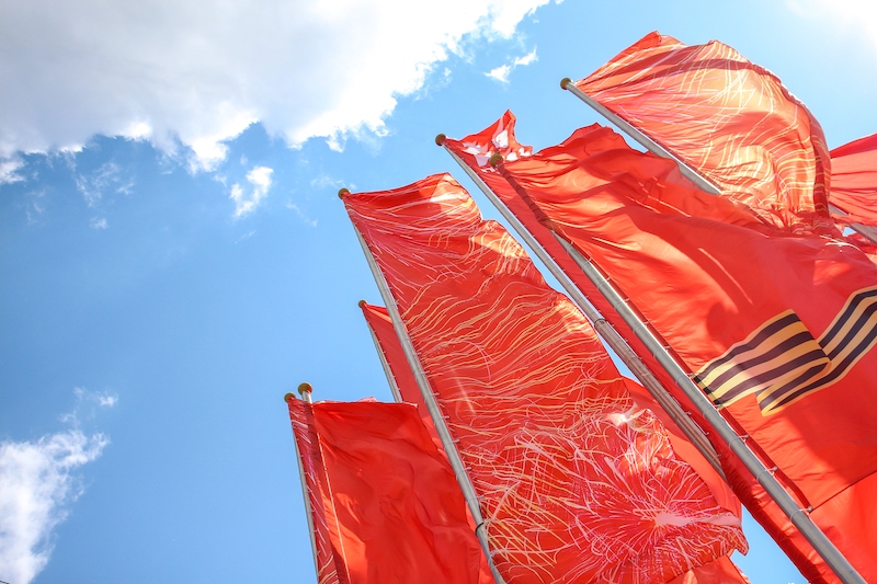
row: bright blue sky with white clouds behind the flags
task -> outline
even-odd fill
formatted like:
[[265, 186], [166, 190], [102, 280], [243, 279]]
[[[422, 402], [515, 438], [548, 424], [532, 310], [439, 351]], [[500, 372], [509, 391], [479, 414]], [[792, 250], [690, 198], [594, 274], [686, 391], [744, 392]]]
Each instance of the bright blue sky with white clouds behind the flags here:
[[437, 133], [556, 144], [599, 121], [559, 80], [652, 30], [877, 131], [868, 2], [736, 4], [0, 5], [0, 580], [315, 582], [283, 394], [390, 399], [338, 188], [471, 186]]

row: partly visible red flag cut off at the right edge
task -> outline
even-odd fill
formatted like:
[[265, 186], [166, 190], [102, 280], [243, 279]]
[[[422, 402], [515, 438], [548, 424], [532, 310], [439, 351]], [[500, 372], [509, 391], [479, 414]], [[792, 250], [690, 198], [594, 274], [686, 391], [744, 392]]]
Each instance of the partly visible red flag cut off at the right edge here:
[[831, 204], [841, 219], [877, 227], [877, 134], [831, 151]]

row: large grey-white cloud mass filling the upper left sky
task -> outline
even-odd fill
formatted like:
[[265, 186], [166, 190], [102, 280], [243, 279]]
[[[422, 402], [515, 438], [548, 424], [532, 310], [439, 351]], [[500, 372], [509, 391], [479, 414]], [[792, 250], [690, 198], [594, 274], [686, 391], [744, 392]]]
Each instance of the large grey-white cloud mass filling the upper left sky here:
[[257, 121], [340, 148], [467, 37], [509, 37], [548, 1], [0, 2], [0, 157], [103, 134], [212, 168]]

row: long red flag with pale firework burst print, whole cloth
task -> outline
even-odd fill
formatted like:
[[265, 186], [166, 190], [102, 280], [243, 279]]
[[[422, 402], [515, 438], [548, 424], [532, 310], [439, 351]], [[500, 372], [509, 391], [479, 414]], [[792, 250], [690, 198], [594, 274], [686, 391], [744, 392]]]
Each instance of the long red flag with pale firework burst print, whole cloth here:
[[672, 580], [745, 543], [581, 313], [448, 175], [344, 204], [457, 440], [508, 582]]

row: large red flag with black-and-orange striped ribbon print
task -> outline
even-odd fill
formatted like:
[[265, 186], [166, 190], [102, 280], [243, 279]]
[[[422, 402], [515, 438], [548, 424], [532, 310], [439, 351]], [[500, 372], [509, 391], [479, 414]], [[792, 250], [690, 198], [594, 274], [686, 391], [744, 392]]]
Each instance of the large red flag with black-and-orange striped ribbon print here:
[[[732, 202], [692, 198], [692, 186], [654, 174], [658, 157], [607, 133], [581, 128], [501, 173], [612, 278], [801, 507], [813, 507], [813, 520], [877, 581], [877, 267], [839, 241], [733, 225], [725, 219]], [[805, 576], [833, 579], [751, 500], [762, 494], [736, 490], [756, 518], [775, 523], [765, 527]]]

